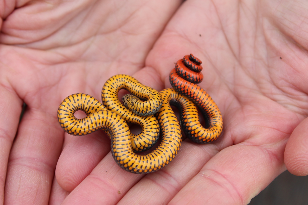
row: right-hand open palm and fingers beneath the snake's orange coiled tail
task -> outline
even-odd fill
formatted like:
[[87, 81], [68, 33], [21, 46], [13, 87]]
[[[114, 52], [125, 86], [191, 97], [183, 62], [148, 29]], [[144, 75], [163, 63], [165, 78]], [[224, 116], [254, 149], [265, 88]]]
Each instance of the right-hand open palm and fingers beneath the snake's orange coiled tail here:
[[64, 204], [249, 203], [285, 170], [286, 142], [307, 115], [304, 14], [299, 2], [184, 2], [146, 66], [168, 87], [179, 56], [200, 58], [224, 134], [207, 145], [185, 140], [168, 167], [146, 176], [114, 167], [109, 154]]

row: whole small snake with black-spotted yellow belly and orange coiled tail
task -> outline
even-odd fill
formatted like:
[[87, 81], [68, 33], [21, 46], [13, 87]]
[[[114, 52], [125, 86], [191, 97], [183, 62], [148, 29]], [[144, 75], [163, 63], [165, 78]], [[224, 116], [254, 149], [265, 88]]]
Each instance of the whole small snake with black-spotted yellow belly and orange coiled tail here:
[[[201, 71], [200, 64], [201, 61], [190, 54], [176, 63], [176, 70], [183, 69], [183, 65], [184, 69], [197, 67], [193, 72], [178, 71], [179, 74], [186, 73], [188, 76], [186, 79], [189, 80]], [[194, 142], [211, 142], [217, 139], [222, 131], [221, 113], [213, 99], [200, 86], [182, 80], [183, 78], [179, 77], [174, 70], [170, 73], [170, 82], [174, 89], [164, 89], [160, 93], [128, 75], [115, 75], [103, 86], [104, 105], [87, 94], [70, 95], [59, 106], [59, 123], [71, 135], [87, 135], [103, 129], [111, 138], [111, 152], [120, 167], [137, 174], [157, 171], [172, 161], [181, 144], [181, 128], [170, 104], [179, 108], [183, 129], [188, 138]], [[197, 78], [199, 78], [197, 82], [202, 80], [201, 77]], [[138, 155], [135, 152], [144, 151], [153, 146], [159, 135], [159, 127], [156, 120], [152, 119], [155, 118], [152, 115], [139, 116], [120, 103], [117, 95], [122, 88], [141, 99], [126, 95], [123, 99], [125, 106], [130, 104], [133, 109], [137, 107], [135, 112], [141, 115], [156, 113], [162, 139], [158, 147], [148, 154]], [[201, 113], [208, 119], [208, 128], [201, 126], [198, 111], [193, 102], [180, 93], [187, 95], [197, 104]], [[75, 118], [74, 113], [77, 110], [84, 111], [87, 116], [83, 119]], [[142, 120], [144, 120], [143, 124], [141, 124]], [[127, 122], [140, 124], [143, 128], [143, 136], [132, 135]]]

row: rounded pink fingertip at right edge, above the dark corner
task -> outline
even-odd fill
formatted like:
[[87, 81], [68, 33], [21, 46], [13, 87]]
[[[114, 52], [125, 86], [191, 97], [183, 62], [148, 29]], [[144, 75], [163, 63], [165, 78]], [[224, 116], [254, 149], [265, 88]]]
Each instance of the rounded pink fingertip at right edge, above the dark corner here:
[[284, 154], [288, 171], [298, 176], [308, 175], [308, 118], [304, 119], [292, 132]]

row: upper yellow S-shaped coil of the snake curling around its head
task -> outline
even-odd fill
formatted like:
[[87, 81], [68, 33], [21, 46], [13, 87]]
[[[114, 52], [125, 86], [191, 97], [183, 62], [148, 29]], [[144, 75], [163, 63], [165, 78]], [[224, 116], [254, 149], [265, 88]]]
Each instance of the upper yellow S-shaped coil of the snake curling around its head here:
[[[124, 105], [131, 105], [131, 109], [123, 106], [118, 98], [120, 89], [125, 89], [137, 96], [136, 103], [127, 103], [124, 96]], [[147, 100], [141, 101], [139, 98]], [[109, 78], [102, 89], [102, 102], [108, 110], [120, 115], [127, 123], [138, 124], [142, 127], [139, 135], [133, 135], [133, 148], [135, 151], [146, 151], [151, 148], [160, 136], [160, 127], [157, 119], [153, 116], [146, 116], [149, 113], [159, 111], [162, 99], [158, 91], [151, 87], [144, 86], [135, 78], [129, 75], [115, 75]], [[134, 110], [134, 112], [132, 111]], [[143, 115], [143, 116], [140, 116]]]

